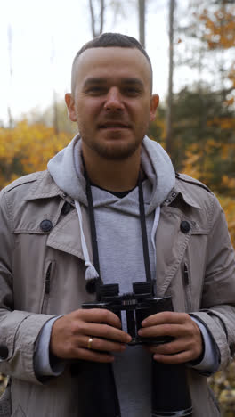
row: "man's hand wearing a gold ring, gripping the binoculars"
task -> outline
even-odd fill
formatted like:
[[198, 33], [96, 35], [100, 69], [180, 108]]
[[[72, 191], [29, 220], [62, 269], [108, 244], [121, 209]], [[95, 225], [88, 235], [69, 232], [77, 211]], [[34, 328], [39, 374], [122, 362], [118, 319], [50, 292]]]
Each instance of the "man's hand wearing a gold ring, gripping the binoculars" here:
[[[93, 341], [88, 348], [90, 338]], [[61, 359], [108, 363], [114, 360], [109, 352], [125, 350], [131, 339], [121, 330], [118, 315], [100, 308], [79, 309], [53, 323], [50, 351]]]

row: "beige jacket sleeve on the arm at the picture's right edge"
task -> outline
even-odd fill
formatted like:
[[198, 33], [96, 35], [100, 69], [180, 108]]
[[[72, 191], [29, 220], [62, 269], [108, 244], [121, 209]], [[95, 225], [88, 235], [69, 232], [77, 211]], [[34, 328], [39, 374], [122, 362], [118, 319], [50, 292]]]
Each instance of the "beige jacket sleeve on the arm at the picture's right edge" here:
[[222, 369], [235, 356], [235, 257], [223, 209], [215, 196], [211, 208], [201, 310], [193, 315], [215, 339]]

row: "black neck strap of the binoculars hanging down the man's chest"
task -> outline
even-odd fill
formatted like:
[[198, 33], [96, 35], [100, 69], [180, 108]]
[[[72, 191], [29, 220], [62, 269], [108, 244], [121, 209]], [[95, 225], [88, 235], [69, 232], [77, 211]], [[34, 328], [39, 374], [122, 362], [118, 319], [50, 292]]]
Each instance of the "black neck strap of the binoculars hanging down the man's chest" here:
[[[93, 266], [95, 267], [97, 273], [99, 274], [98, 279], [95, 279], [94, 282], [92, 280], [92, 282], [88, 282], [86, 284], [86, 290], [88, 292], [96, 292], [97, 299], [100, 300], [100, 286], [102, 285], [102, 280], [101, 280], [100, 259], [99, 259], [96, 226], [95, 226], [95, 219], [94, 219], [93, 193], [92, 193], [91, 182], [85, 169], [84, 159], [83, 159], [83, 165], [84, 165], [84, 176], [85, 176], [85, 181], [86, 181], [85, 189], [86, 189], [86, 196], [87, 196], [87, 202], [88, 202], [88, 213], [89, 213], [89, 218], [90, 218], [91, 235], [92, 235]], [[141, 171], [138, 176], [137, 184], [138, 184], [138, 189], [139, 189], [139, 208], [140, 208], [140, 219], [141, 219], [141, 227], [142, 227], [142, 249], [143, 249], [145, 274], [146, 274], [146, 281], [151, 282], [150, 253], [149, 253], [146, 218], [145, 218], [145, 211], [144, 211]]]

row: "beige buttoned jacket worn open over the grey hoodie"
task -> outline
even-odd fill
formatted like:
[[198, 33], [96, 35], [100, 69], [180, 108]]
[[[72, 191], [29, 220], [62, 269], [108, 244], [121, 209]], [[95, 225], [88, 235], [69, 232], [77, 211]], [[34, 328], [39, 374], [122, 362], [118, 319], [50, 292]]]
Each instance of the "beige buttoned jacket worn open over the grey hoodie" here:
[[[82, 216], [92, 259], [84, 206]], [[42, 230], [44, 220], [52, 222], [50, 231]], [[235, 260], [214, 194], [188, 176], [177, 177], [161, 207], [156, 239], [158, 297], [171, 295], [174, 310], [194, 312], [213, 335], [225, 367], [235, 351]], [[69, 365], [44, 384], [34, 372], [36, 339], [46, 321], [93, 300], [85, 291], [74, 202], [48, 171], [22, 177], [0, 193], [0, 289], [0, 372], [12, 378], [9, 415], [79, 417], [79, 386]], [[193, 369], [188, 377], [193, 417], [220, 415], [207, 378]]]

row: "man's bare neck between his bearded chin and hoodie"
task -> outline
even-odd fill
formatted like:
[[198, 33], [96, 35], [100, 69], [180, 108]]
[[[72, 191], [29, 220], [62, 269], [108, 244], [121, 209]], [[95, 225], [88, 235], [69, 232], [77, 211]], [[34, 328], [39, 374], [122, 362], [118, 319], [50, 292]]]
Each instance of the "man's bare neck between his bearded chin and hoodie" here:
[[113, 192], [133, 189], [138, 180], [141, 167], [141, 150], [122, 160], [104, 159], [94, 151], [82, 147], [85, 169], [91, 182]]

